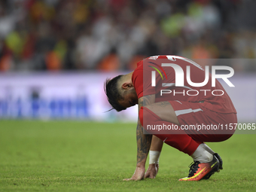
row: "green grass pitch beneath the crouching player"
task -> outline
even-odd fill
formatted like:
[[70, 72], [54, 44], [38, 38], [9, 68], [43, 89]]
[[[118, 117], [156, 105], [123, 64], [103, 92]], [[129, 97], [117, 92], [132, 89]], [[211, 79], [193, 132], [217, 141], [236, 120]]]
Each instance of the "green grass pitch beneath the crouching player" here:
[[178, 181], [191, 159], [164, 145], [157, 178], [122, 181], [136, 168], [136, 124], [1, 120], [0, 191], [255, 191], [255, 144], [208, 143], [224, 160], [208, 181]]

